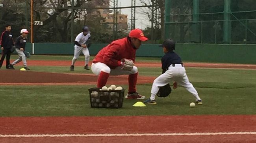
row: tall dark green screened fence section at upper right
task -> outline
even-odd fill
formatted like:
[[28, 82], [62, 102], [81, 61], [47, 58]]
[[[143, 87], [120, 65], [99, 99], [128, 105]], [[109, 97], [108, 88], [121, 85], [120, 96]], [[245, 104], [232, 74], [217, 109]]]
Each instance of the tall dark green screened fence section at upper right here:
[[165, 0], [165, 38], [177, 43], [256, 44], [253, 0]]

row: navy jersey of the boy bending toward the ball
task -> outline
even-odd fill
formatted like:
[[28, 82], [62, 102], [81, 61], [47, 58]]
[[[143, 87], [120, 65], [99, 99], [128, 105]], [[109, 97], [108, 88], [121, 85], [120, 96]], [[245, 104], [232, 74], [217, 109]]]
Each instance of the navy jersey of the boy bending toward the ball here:
[[161, 59], [162, 61], [162, 69], [168, 70], [168, 67], [173, 63], [182, 63], [180, 56], [176, 54], [175, 52], [167, 52]]

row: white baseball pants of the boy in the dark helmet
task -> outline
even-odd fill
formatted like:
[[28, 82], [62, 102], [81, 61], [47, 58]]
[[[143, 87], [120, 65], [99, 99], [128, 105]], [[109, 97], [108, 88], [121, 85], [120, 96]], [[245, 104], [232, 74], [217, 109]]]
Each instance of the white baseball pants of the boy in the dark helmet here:
[[159, 87], [165, 86], [172, 81], [176, 81], [178, 85], [185, 87], [187, 91], [196, 98], [196, 100], [201, 100], [198, 96], [197, 90], [193, 87], [192, 83], [189, 82], [186, 70], [182, 67], [182, 64], [175, 64], [175, 67], [170, 65], [165, 73], [161, 74], [154, 80], [150, 100], [155, 100]]

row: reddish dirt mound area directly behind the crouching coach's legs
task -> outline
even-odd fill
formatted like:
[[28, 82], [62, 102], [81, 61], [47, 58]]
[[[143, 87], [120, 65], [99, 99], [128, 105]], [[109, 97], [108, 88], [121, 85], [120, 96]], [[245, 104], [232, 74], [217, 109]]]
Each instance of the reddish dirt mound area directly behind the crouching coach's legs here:
[[[0, 70], [0, 85], [96, 85], [94, 74], [61, 74], [18, 70]], [[138, 84], [152, 83], [154, 77], [139, 76]], [[107, 84], [128, 84], [128, 75], [110, 76]]]

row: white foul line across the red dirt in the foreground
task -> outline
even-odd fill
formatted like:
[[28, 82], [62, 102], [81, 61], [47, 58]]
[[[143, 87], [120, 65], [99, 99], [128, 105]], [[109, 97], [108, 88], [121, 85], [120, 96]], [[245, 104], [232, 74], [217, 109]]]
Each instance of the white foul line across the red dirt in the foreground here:
[[113, 137], [113, 136], [213, 136], [213, 135], [256, 135], [256, 132], [195, 132], [159, 134], [0, 134], [0, 138], [38, 138], [38, 137]]

